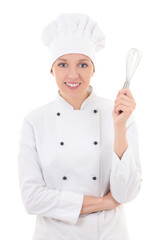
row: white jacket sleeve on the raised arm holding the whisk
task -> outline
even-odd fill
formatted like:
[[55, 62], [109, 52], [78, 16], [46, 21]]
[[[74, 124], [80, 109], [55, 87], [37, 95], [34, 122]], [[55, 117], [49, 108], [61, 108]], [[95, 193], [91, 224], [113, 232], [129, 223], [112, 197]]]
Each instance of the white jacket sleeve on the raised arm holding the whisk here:
[[128, 148], [121, 159], [113, 152], [112, 169], [110, 174], [110, 191], [119, 203], [133, 200], [141, 187], [141, 163], [139, 156], [138, 131], [135, 117], [128, 119], [127, 142]]

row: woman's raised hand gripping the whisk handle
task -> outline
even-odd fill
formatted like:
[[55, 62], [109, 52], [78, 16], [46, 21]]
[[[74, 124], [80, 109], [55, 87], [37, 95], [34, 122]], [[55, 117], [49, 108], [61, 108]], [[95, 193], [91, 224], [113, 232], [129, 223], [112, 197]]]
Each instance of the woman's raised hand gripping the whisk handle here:
[[[122, 88], [115, 100], [114, 110], [112, 112], [115, 125], [126, 125], [126, 122], [136, 107], [135, 100], [129, 88]], [[123, 112], [119, 114], [119, 111]]]

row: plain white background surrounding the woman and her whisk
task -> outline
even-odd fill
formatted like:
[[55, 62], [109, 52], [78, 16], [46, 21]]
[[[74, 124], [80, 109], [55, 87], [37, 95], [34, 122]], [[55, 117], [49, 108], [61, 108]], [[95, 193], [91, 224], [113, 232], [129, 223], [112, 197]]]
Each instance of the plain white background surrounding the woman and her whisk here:
[[88, 14], [106, 34], [106, 47], [97, 53], [96, 73], [91, 79], [97, 95], [115, 100], [125, 80], [127, 51], [132, 47], [142, 51], [130, 90], [137, 103], [134, 113], [143, 180], [139, 195], [125, 204], [125, 209], [131, 240], [160, 239], [158, 4], [158, 0], [1, 1], [0, 239], [32, 238], [35, 216], [25, 212], [19, 192], [18, 141], [24, 115], [57, 94], [41, 31], [64, 12]]

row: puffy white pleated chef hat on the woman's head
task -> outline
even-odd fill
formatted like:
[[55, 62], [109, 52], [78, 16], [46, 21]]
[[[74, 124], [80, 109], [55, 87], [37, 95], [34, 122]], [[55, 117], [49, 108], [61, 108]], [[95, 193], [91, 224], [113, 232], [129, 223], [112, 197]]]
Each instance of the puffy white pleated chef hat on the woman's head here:
[[42, 42], [49, 48], [51, 65], [69, 53], [84, 54], [95, 65], [95, 52], [105, 47], [105, 35], [88, 15], [63, 13], [43, 29]]

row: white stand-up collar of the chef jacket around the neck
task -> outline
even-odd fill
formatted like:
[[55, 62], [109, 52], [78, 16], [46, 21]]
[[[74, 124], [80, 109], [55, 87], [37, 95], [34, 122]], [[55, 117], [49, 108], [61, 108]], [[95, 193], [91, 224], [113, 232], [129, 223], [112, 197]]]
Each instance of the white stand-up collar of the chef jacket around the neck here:
[[91, 109], [93, 107], [92, 105], [95, 102], [97, 95], [93, 91], [93, 87], [91, 85], [88, 86], [87, 91], [90, 95], [82, 102], [80, 109], [74, 109], [74, 107], [60, 95], [60, 90], [58, 90], [56, 100], [58, 101], [58, 103], [60, 103], [60, 105], [63, 108], [66, 108], [66, 109], [76, 110], [76, 111]]

